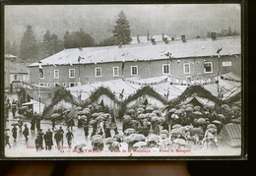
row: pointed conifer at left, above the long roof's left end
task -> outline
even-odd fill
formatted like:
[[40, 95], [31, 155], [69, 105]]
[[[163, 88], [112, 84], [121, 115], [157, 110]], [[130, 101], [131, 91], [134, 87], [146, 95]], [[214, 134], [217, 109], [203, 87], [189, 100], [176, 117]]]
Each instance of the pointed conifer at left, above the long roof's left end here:
[[24, 61], [36, 61], [38, 59], [38, 49], [32, 26], [28, 25], [22, 37], [20, 45], [21, 59]]

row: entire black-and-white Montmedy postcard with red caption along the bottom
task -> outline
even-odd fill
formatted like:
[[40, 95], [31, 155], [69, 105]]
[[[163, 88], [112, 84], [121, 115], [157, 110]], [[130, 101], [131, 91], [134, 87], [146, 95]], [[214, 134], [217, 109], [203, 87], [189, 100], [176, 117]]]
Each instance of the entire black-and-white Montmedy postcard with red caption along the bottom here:
[[4, 157], [244, 157], [241, 4], [4, 6]]

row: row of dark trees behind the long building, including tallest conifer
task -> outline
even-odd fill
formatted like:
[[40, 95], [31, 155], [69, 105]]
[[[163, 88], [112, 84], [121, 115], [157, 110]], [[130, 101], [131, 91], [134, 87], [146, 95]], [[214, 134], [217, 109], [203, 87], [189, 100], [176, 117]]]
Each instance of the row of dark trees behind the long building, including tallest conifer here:
[[20, 46], [16, 42], [11, 43], [10, 40], [6, 40], [5, 54], [13, 54], [18, 56], [21, 62], [32, 63], [68, 48], [129, 44], [132, 40], [131, 31], [129, 21], [123, 11], [120, 11], [115, 23], [112, 36], [103, 39], [98, 44], [84, 29], [66, 30], [63, 38], [59, 38], [56, 33], [51, 33], [47, 29], [39, 41], [36, 40], [32, 25], [28, 25]]

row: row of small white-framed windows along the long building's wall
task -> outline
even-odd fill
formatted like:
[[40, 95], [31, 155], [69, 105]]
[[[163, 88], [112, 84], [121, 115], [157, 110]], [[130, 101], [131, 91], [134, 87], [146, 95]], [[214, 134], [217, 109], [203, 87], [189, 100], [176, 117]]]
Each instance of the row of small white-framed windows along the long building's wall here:
[[[212, 73], [213, 72], [213, 63], [205, 62], [204, 63], [204, 72]], [[190, 63], [183, 64], [183, 72], [184, 74], [190, 74]], [[162, 74], [166, 75], [170, 73], [169, 64], [162, 65]], [[44, 74], [42, 74], [41, 79], [43, 79]], [[119, 76], [119, 68], [113, 67], [113, 77]], [[131, 76], [138, 76], [138, 66], [131, 66]], [[54, 70], [54, 79], [59, 79], [59, 70]], [[95, 68], [95, 77], [101, 77], [101, 67]], [[69, 78], [75, 78], [75, 69], [69, 69]]]

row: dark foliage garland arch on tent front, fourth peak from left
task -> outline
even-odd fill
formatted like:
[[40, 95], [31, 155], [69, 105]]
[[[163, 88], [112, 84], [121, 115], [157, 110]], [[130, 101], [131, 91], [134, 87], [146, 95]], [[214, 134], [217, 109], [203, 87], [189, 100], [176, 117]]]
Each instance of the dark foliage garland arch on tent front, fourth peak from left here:
[[220, 100], [218, 97], [214, 96], [209, 90], [207, 90], [204, 87], [201, 86], [190, 86], [188, 88], [186, 88], [182, 94], [180, 94], [179, 96], [169, 100], [168, 104], [173, 104], [173, 105], [177, 105], [179, 103], [181, 103], [182, 100], [186, 99], [189, 96], [193, 96], [193, 94], [195, 94], [199, 97], [203, 97], [203, 98], [208, 98], [212, 101], [214, 101], [217, 104], [222, 103], [222, 100]]

